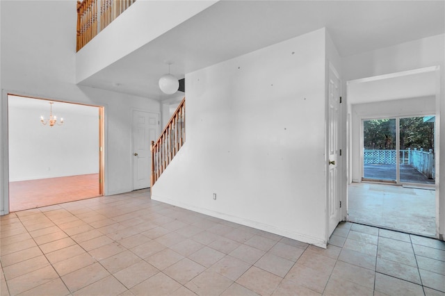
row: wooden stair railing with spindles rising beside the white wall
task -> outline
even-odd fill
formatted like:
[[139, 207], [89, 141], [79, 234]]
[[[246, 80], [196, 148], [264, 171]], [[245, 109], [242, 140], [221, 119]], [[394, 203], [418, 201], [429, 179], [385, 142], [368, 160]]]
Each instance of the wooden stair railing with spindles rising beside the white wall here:
[[184, 97], [159, 139], [156, 142], [152, 141], [152, 186], [186, 142], [185, 123], [186, 98]]

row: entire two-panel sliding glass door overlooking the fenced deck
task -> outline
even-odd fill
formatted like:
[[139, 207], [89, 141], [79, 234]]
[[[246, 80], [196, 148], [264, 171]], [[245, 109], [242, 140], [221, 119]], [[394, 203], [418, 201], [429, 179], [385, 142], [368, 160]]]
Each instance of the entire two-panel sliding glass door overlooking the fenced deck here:
[[363, 181], [435, 183], [435, 117], [363, 120]]

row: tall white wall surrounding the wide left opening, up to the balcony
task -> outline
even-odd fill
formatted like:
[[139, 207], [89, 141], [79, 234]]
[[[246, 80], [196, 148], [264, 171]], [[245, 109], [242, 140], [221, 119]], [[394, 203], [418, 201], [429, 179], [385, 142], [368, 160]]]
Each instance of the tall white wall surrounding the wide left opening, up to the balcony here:
[[8, 211], [8, 93], [104, 106], [105, 194], [131, 191], [131, 112], [160, 113], [159, 101], [75, 84], [76, 1], [0, 1], [0, 6], [1, 215]]

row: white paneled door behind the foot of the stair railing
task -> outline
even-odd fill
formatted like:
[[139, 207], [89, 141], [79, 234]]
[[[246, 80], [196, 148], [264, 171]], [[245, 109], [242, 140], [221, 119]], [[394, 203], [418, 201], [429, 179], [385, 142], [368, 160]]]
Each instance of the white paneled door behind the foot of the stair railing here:
[[150, 145], [159, 135], [159, 114], [133, 110], [133, 190], [150, 187]]

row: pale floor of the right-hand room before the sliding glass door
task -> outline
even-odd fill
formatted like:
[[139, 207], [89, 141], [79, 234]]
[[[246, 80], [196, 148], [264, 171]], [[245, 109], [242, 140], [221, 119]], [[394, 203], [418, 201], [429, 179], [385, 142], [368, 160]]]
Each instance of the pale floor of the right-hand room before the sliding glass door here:
[[348, 186], [351, 222], [435, 237], [435, 190], [377, 183]]

